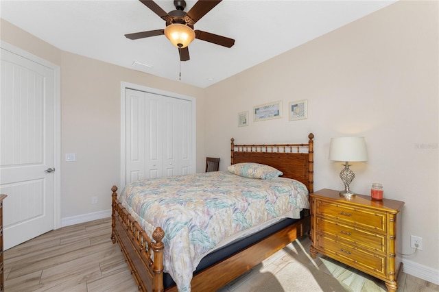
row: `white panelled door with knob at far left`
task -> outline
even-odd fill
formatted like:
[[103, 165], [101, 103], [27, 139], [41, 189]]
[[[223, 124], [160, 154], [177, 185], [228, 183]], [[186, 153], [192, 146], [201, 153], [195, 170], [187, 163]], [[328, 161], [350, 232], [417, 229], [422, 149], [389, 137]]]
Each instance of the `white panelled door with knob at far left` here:
[[54, 229], [54, 70], [1, 49], [4, 248]]

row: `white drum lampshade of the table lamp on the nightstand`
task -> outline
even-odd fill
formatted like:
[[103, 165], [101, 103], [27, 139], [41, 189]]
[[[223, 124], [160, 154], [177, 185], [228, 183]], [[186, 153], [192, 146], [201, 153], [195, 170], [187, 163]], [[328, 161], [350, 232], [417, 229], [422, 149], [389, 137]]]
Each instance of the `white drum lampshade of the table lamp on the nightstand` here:
[[368, 160], [364, 137], [331, 138], [329, 159], [353, 162]]

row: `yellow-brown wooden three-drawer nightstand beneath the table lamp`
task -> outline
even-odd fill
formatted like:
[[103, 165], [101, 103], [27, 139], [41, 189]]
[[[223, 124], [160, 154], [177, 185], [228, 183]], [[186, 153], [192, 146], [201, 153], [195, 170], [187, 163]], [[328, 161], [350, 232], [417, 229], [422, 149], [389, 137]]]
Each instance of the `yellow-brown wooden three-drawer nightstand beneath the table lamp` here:
[[404, 202], [375, 201], [368, 195], [346, 199], [326, 188], [310, 196], [311, 256], [320, 252], [385, 281], [388, 291], [396, 291], [403, 267], [396, 256], [396, 230]]

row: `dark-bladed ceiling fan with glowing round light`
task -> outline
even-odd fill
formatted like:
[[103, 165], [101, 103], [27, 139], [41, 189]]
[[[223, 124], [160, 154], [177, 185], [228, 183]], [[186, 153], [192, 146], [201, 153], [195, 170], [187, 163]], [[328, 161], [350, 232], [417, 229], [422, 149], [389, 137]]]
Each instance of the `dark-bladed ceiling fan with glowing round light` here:
[[150, 36], [165, 36], [172, 42], [172, 44], [178, 47], [178, 53], [180, 54], [180, 61], [189, 60], [189, 43], [194, 39], [205, 40], [206, 42], [212, 42], [215, 45], [223, 47], [232, 47], [235, 44], [235, 40], [232, 38], [226, 38], [225, 36], [218, 36], [217, 34], [211, 34], [210, 32], [203, 32], [201, 30], [193, 30], [193, 25], [199, 21], [207, 12], [211, 11], [222, 0], [198, 0], [191, 10], [185, 12], [186, 1], [176, 0], [174, 5], [176, 10], [166, 13], [157, 3], [152, 0], [139, 0], [147, 8], [150, 8], [152, 12], [157, 14], [161, 19], [166, 21], [165, 29], [155, 29], [147, 32], [136, 32], [134, 34], [126, 34], [127, 38], [131, 40], [137, 40], [139, 38], [149, 38]]

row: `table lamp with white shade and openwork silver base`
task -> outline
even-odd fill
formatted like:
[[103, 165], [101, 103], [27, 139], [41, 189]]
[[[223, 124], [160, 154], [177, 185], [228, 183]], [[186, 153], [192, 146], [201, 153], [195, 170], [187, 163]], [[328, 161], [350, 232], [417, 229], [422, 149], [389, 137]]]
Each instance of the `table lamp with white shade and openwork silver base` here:
[[366, 161], [368, 159], [364, 137], [331, 138], [329, 159], [345, 162], [344, 169], [340, 172], [340, 178], [344, 184], [344, 190], [340, 191], [340, 195], [344, 197], [354, 196], [355, 193], [349, 189], [349, 184], [355, 178], [355, 174], [349, 169], [349, 162]]

